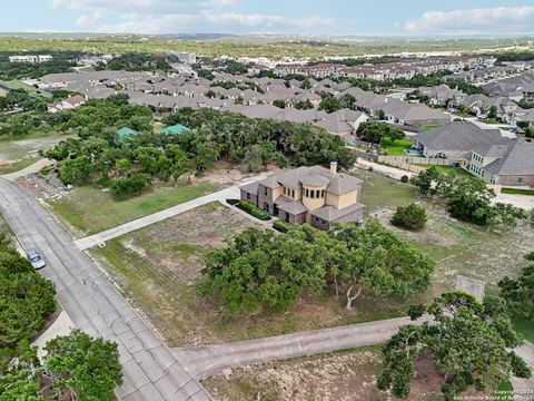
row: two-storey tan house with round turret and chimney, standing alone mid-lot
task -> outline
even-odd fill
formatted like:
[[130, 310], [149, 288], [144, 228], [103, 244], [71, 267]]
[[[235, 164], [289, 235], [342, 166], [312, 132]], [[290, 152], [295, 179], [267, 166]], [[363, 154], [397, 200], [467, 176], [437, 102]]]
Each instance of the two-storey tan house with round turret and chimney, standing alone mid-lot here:
[[363, 180], [322, 166], [298, 167], [240, 187], [241, 199], [291, 224], [328, 229], [333, 222], [360, 222]]

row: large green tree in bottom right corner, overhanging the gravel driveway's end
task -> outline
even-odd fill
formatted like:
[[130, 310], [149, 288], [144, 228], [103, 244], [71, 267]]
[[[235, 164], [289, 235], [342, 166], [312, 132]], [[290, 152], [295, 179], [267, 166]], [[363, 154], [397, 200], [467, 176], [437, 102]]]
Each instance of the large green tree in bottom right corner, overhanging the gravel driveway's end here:
[[432, 358], [443, 374], [446, 401], [456, 400], [469, 387], [483, 391], [512, 374], [531, 376], [526, 363], [512, 351], [522, 339], [512, 327], [503, 299], [486, 296], [481, 304], [469, 294], [451, 292], [411, 311], [413, 319], [427, 312], [434, 320], [402, 326], [383, 346], [378, 389], [407, 398], [418, 358]]

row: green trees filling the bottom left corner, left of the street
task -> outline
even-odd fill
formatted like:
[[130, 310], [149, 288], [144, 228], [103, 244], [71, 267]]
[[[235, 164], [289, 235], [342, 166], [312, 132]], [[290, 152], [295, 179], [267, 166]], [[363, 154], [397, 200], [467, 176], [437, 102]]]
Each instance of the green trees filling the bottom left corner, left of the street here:
[[108, 401], [122, 382], [118, 346], [73, 331], [30, 343], [56, 311], [55, 288], [0, 233], [0, 399]]

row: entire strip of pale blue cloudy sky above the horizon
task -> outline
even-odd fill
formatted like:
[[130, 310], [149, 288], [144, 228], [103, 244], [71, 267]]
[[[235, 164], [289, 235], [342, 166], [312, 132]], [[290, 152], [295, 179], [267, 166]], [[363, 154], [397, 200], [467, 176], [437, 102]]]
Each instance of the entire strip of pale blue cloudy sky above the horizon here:
[[534, 33], [533, 0], [18, 0], [0, 31], [105, 33]]

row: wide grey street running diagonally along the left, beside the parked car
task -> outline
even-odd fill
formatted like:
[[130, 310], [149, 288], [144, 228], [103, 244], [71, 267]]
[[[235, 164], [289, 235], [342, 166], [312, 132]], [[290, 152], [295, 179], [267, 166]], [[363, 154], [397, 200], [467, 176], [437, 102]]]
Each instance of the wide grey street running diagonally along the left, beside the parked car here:
[[37, 248], [57, 300], [75, 325], [119, 344], [126, 401], [204, 401], [209, 394], [178, 363], [103, 273], [72, 243], [53, 218], [16, 184], [0, 178], [0, 211], [24, 248]]

